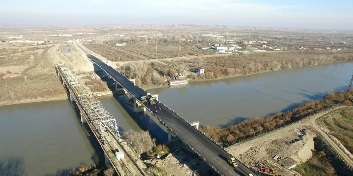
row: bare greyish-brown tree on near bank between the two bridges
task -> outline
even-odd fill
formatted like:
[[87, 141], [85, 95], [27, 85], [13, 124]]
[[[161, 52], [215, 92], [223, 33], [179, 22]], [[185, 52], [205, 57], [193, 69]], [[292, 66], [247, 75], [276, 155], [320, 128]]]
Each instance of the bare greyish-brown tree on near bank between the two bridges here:
[[123, 133], [123, 136], [126, 142], [139, 156], [145, 152], [151, 154], [153, 148], [156, 147], [155, 139], [151, 138], [150, 132], [148, 131], [128, 130]]

